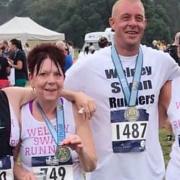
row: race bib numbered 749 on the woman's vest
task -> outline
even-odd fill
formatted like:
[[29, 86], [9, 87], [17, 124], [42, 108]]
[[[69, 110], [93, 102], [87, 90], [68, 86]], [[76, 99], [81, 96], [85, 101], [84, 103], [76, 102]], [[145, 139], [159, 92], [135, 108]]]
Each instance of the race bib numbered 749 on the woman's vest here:
[[60, 163], [55, 156], [33, 157], [32, 170], [38, 180], [73, 180], [72, 160]]

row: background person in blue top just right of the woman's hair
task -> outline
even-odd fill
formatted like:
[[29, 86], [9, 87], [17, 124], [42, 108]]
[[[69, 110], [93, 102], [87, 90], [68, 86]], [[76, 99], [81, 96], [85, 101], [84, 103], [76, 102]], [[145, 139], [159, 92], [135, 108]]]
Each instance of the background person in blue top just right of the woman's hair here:
[[70, 54], [68, 54], [68, 49], [66, 44], [63, 41], [57, 41], [56, 46], [60, 49], [63, 50], [64, 55], [65, 55], [65, 64], [64, 64], [64, 70], [67, 71], [73, 64], [73, 59]]

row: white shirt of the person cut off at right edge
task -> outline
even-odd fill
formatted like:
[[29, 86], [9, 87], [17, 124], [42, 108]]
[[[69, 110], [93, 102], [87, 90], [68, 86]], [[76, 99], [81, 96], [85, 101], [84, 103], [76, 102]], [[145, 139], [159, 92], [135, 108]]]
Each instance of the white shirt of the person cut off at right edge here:
[[179, 180], [180, 178], [180, 78], [172, 81], [171, 101], [168, 107], [168, 116], [172, 125], [175, 142], [172, 145], [170, 161], [168, 163], [166, 180]]

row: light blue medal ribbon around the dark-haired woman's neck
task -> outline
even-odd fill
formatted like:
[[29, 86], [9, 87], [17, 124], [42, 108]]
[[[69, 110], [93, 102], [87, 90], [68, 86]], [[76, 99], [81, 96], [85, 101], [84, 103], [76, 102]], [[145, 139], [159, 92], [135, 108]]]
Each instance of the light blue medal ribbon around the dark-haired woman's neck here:
[[64, 110], [63, 110], [63, 103], [62, 100], [58, 101], [57, 107], [56, 107], [56, 124], [57, 124], [57, 130], [55, 130], [52, 123], [49, 121], [48, 117], [46, 116], [45, 112], [43, 111], [41, 105], [37, 102], [37, 107], [39, 112], [41, 113], [41, 116], [43, 117], [46, 126], [48, 127], [55, 143], [57, 145], [60, 144], [61, 141], [65, 138], [65, 121], [64, 121]]

